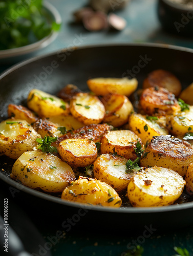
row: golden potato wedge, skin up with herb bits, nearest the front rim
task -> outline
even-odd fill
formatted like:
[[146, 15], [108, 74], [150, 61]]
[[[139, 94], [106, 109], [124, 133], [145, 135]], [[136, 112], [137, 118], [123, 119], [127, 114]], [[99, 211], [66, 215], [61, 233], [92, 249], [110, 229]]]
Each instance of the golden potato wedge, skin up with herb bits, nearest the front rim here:
[[61, 199], [110, 207], [120, 207], [122, 204], [119, 195], [110, 185], [81, 176], [63, 190]]

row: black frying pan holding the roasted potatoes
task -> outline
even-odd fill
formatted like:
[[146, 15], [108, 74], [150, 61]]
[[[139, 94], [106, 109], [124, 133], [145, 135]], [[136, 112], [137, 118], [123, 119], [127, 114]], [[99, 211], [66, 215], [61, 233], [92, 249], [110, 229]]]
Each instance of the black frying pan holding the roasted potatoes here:
[[[12, 67], [0, 77], [0, 117], [7, 117], [9, 103], [25, 104], [32, 88], [55, 94], [67, 83], [73, 83], [87, 90], [86, 80], [92, 77], [121, 77], [130, 73], [130, 76], [136, 76], [141, 87], [149, 72], [165, 69], [173, 72], [185, 88], [193, 80], [192, 59], [191, 49], [155, 44], [81, 47], [35, 57]], [[37, 215], [39, 211], [41, 214], [50, 214], [55, 220], [60, 220], [60, 224], [75, 215], [79, 216], [76, 216], [79, 225], [85, 227], [86, 221], [92, 223], [87, 225], [92, 228], [103, 226], [131, 230], [144, 228], [145, 225], [167, 228], [193, 224], [193, 202], [165, 207], [119, 209], [66, 202], [11, 180], [9, 174], [13, 161], [9, 160], [10, 165], [4, 165], [6, 161], [4, 156], [0, 157], [0, 178], [7, 183], [9, 193], [12, 188], [16, 188], [20, 192], [14, 194], [15, 200], [28, 204], [30, 212], [36, 212]], [[1, 171], [2, 168], [4, 171]], [[78, 211], [79, 208], [84, 210]], [[85, 217], [81, 217], [80, 212], [86, 212]], [[64, 226], [63, 229], [68, 228]]]

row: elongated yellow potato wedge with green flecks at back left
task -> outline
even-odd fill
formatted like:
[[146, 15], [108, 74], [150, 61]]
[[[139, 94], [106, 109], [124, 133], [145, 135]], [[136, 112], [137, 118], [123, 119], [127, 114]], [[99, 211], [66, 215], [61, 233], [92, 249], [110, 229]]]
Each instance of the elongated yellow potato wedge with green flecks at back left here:
[[33, 89], [27, 99], [28, 108], [40, 117], [66, 116], [70, 113], [69, 104], [51, 94]]

